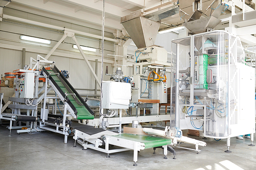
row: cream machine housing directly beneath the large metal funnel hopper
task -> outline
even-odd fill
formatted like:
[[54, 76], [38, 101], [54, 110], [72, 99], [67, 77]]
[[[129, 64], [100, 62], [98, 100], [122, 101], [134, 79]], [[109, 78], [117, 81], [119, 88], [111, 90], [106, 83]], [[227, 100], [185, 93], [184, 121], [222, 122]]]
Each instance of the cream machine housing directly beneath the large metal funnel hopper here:
[[[167, 51], [158, 46], [150, 46], [146, 48], [140, 48], [135, 51], [137, 56], [137, 62], [141, 62], [146, 60], [147, 62], [163, 62], [166, 63], [167, 61]], [[134, 58], [136, 61], [136, 57]]]

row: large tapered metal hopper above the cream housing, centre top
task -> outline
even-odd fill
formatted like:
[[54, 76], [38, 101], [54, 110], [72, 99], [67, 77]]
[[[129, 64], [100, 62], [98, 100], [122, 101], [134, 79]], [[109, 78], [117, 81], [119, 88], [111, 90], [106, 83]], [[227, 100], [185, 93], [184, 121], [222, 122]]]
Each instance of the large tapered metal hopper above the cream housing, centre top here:
[[159, 22], [137, 17], [121, 23], [138, 48], [154, 45], [160, 26]]

